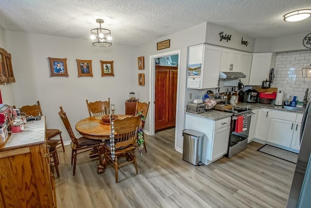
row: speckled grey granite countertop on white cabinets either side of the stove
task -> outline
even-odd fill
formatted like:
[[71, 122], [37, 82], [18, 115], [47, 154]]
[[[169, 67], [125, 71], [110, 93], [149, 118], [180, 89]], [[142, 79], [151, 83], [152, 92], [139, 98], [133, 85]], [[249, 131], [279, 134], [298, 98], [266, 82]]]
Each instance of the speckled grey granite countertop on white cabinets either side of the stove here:
[[[274, 104], [262, 104], [262, 103], [238, 103], [237, 105], [234, 105], [236, 107], [241, 107], [241, 108], [248, 108], [252, 110], [256, 110], [259, 108], [267, 108], [267, 109], [273, 109], [273, 110], [279, 110], [279, 111], [286, 111], [286, 112], [291, 112], [291, 113], [303, 113], [301, 111], [293, 111], [293, 110], [287, 110], [283, 109], [282, 106], [275, 106]], [[215, 111], [215, 110], [208, 110], [207, 112], [204, 113], [191, 113], [187, 112], [188, 114], [196, 115], [199, 117], [207, 118], [210, 120], [219, 120], [223, 119], [226, 117], [232, 116], [233, 113], [227, 113], [227, 112], [222, 112], [222, 111]]]

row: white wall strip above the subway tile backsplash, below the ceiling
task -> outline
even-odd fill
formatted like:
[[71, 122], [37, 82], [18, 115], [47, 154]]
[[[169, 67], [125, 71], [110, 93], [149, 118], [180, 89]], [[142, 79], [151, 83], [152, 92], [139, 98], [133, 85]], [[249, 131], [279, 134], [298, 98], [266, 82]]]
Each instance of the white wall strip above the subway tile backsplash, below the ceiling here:
[[291, 52], [310, 50], [303, 45], [303, 39], [309, 33], [299, 33], [276, 38], [256, 38], [254, 52]]

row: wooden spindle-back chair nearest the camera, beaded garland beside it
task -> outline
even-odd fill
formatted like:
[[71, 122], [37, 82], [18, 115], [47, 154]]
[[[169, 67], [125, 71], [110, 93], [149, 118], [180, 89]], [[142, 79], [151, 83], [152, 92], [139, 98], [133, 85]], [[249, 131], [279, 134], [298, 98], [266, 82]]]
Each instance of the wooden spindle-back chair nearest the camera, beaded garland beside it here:
[[[110, 140], [106, 140], [104, 144], [104, 162], [107, 167], [107, 162], [115, 168], [116, 183], [118, 183], [118, 169], [129, 163], [134, 163], [136, 174], [138, 174], [137, 162], [135, 157], [135, 143], [138, 132], [138, 126], [140, 124], [140, 116], [129, 116], [123, 119], [115, 119], [110, 122], [110, 128], [114, 129], [114, 144], [115, 152], [114, 159], [112, 158], [112, 151], [110, 149]], [[121, 162], [119, 157], [125, 157], [126, 160]]]

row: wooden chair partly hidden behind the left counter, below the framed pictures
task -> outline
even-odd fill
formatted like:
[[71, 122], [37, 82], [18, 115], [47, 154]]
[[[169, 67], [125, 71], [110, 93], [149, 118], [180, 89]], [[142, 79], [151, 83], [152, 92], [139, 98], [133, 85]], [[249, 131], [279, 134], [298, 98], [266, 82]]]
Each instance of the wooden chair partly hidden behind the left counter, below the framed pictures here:
[[[13, 106], [13, 108], [16, 108], [15, 106]], [[40, 102], [37, 101], [36, 105], [26, 105], [26, 106], [22, 106], [21, 108], [19, 108], [20, 113], [24, 113], [26, 116], [38, 116], [38, 115], [43, 115], [42, 110], [41, 110], [41, 106], [40, 106]], [[62, 138], [62, 132], [58, 129], [46, 129], [47, 131], [47, 138], [48, 140], [56, 140], [57, 141], [57, 148], [62, 147], [63, 151], [65, 151], [65, 147], [64, 147], [64, 142], [63, 142], [63, 138]], [[55, 139], [54, 137], [59, 135], [59, 139]]]

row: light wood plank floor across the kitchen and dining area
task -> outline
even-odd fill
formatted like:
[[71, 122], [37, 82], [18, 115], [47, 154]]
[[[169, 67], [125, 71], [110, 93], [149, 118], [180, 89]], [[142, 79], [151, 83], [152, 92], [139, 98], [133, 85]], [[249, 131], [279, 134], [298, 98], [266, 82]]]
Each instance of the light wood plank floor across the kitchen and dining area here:
[[70, 146], [58, 149], [60, 178], [55, 179], [58, 208], [285, 208], [295, 164], [256, 151], [252, 142], [240, 154], [195, 167], [174, 150], [174, 131], [145, 136], [147, 153], [137, 151], [134, 165], [108, 166], [97, 174], [97, 161], [77, 165], [72, 177]]

